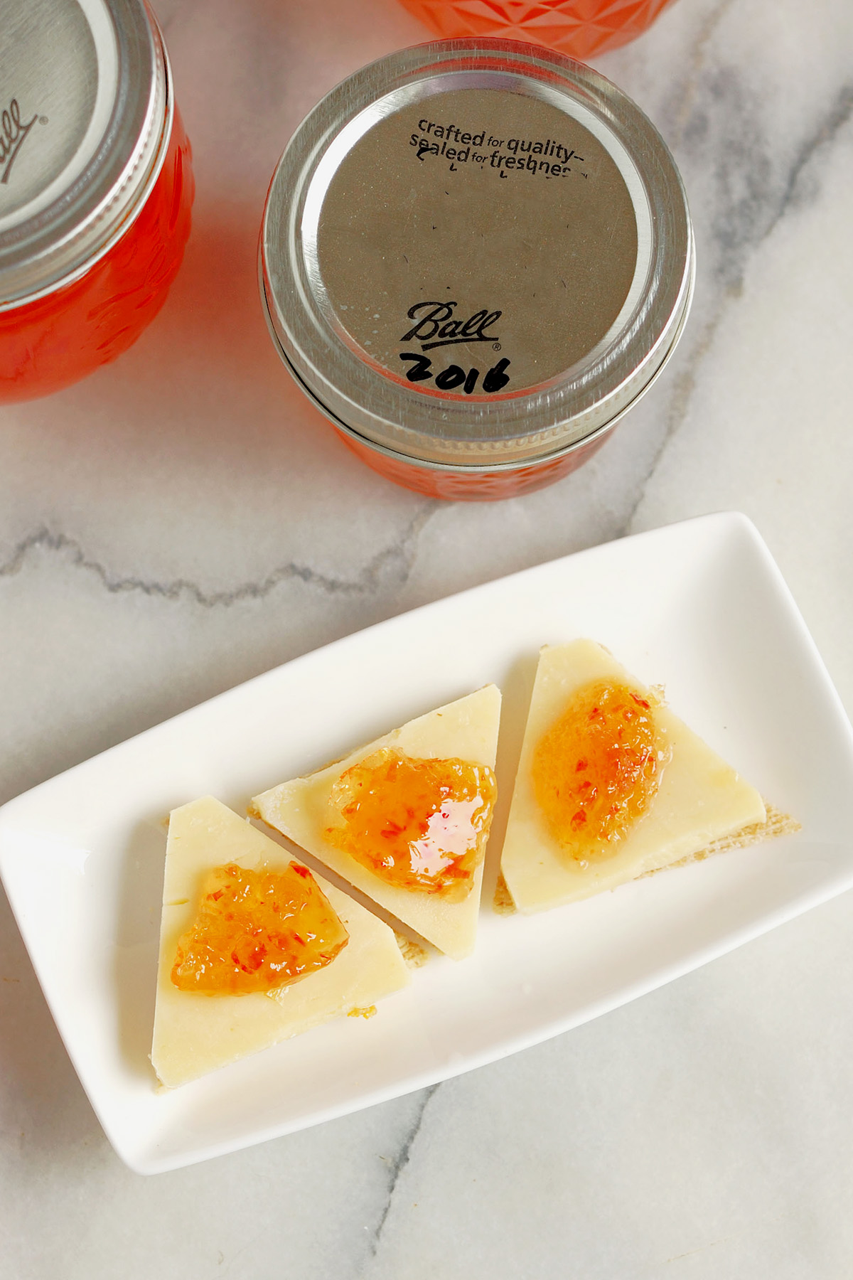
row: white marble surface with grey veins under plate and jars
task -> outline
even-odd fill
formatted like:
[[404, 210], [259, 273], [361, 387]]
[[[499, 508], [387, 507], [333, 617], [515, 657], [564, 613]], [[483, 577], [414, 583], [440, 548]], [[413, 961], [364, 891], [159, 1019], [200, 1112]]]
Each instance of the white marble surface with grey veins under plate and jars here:
[[[289, 132], [421, 28], [394, 0], [159, 10], [194, 230], [132, 352], [0, 411], [0, 799], [370, 622], [720, 508], [753, 517], [853, 708], [849, 0], [679, 0], [600, 60], [682, 168], [693, 315], [592, 463], [496, 506], [362, 467], [289, 383], [256, 297]], [[101, 1134], [4, 899], [0, 1272], [849, 1276], [852, 983], [848, 895], [540, 1048], [142, 1179]]]

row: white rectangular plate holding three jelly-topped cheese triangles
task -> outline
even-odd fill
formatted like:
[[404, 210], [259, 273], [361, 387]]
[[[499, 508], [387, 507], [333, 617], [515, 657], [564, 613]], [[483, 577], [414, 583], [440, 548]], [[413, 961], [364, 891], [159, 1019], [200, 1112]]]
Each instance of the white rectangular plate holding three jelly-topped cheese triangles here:
[[[533, 918], [491, 911], [540, 645], [601, 641], [797, 836]], [[164, 815], [237, 812], [495, 681], [501, 801], [469, 960], [432, 959], [340, 1019], [173, 1092], [148, 1062]], [[853, 735], [748, 520], [610, 543], [382, 622], [214, 698], [0, 810], [0, 874], [56, 1025], [119, 1156], [175, 1169], [494, 1061], [633, 1000], [853, 884]]]

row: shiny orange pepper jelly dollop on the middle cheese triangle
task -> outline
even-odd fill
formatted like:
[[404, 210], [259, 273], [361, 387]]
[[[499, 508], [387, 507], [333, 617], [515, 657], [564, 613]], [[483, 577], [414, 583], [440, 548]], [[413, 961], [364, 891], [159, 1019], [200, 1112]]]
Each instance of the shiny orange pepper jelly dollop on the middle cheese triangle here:
[[389, 884], [460, 901], [483, 859], [496, 795], [487, 764], [384, 746], [335, 782], [341, 820], [326, 838]]

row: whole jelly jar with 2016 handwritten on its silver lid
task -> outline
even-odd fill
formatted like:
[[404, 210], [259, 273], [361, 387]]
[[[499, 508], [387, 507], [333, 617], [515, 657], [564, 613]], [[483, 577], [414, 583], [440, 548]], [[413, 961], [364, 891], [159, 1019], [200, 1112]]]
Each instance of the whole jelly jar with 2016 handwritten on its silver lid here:
[[290, 372], [371, 467], [503, 498], [586, 461], [692, 294], [675, 164], [591, 68], [458, 40], [350, 77], [274, 174], [261, 294]]

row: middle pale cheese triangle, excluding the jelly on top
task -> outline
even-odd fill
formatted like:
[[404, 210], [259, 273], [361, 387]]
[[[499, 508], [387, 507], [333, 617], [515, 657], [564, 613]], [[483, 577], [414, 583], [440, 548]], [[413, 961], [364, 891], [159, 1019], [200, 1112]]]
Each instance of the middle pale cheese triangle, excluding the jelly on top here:
[[454, 960], [460, 960], [471, 955], [474, 947], [482, 863], [468, 896], [462, 901], [449, 902], [439, 893], [389, 884], [350, 854], [330, 844], [324, 833], [336, 817], [330, 804], [333, 787], [359, 760], [381, 748], [391, 748], [417, 759], [457, 758], [472, 764], [487, 764], [494, 769], [499, 721], [500, 690], [495, 685], [487, 685], [467, 698], [409, 721], [336, 764], [265, 791], [252, 800], [249, 812], [295, 841], [427, 942], [432, 942]]

